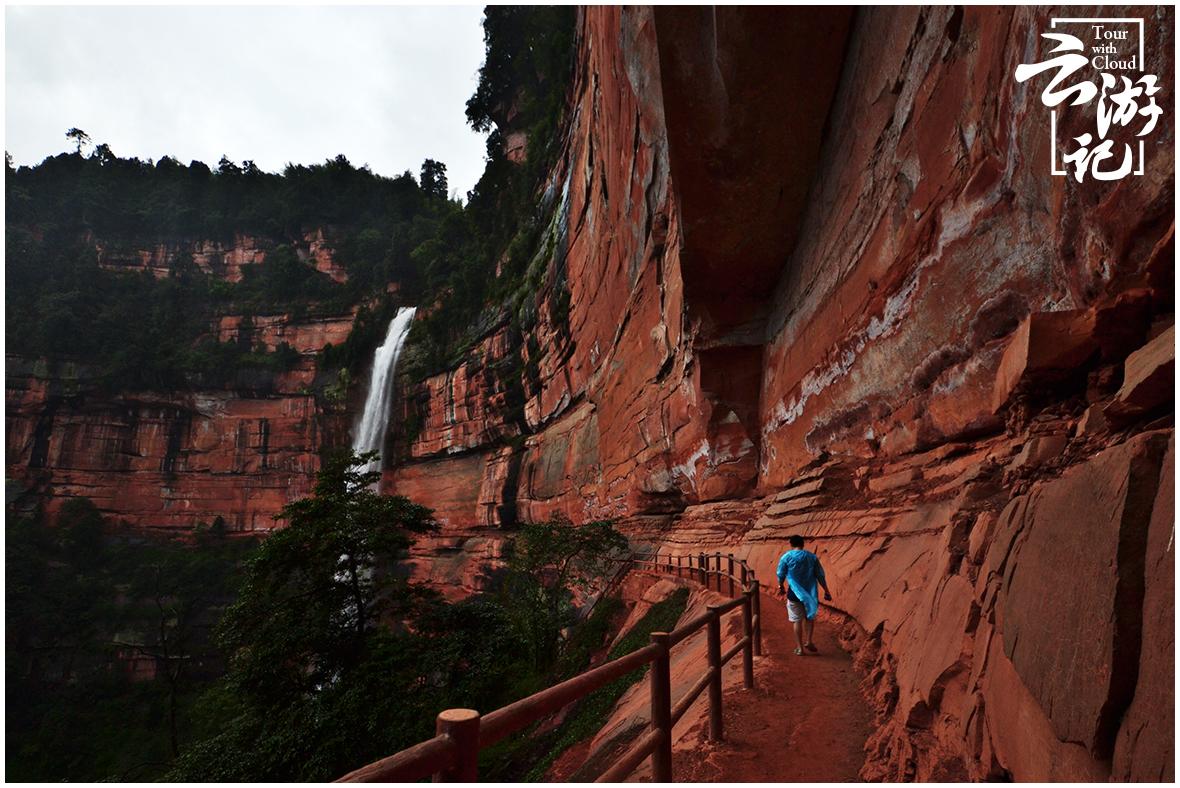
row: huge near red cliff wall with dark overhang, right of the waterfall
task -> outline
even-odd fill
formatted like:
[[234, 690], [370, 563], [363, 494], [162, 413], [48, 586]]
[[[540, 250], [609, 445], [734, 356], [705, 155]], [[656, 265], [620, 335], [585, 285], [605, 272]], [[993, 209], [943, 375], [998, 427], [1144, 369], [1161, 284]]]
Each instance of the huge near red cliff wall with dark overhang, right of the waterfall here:
[[[586, 9], [537, 327], [406, 393], [422, 565], [611, 517], [769, 577], [801, 533], [866, 776], [1169, 779], [1172, 94], [1143, 175], [1051, 177], [1014, 72], [1057, 15]], [[1171, 11], [1102, 15], [1172, 72]]]

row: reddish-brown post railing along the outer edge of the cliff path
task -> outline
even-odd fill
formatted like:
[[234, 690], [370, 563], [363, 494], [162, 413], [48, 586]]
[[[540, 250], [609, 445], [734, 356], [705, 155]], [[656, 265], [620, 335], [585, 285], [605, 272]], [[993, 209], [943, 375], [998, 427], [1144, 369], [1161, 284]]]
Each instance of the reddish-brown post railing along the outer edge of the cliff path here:
[[[721, 669], [739, 654], [742, 655], [742, 682], [747, 689], [754, 687], [754, 656], [762, 651], [760, 586], [754, 571], [732, 553], [697, 553], [695, 557], [669, 554], [663, 558], [632, 556], [623, 560], [640, 571], [675, 574], [699, 582], [707, 589], [715, 586], [721, 593], [728, 591], [730, 599], [723, 604], [708, 605], [707, 612], [671, 632], [653, 632], [651, 643], [637, 651], [490, 714], [480, 715], [472, 709], [441, 711], [435, 721], [434, 738], [361, 767], [336, 782], [411, 782], [431, 775], [435, 782], [474, 782], [479, 777], [480, 749], [648, 664], [651, 665], [651, 723], [647, 733], [598, 777], [598, 782], [622, 781], [647, 757], [651, 759], [653, 780], [671, 782], [673, 728], [706, 689], [709, 690], [708, 736], [712, 741], [722, 740]], [[722, 654], [721, 618], [735, 610], [741, 611], [742, 636]], [[708, 670], [673, 705], [670, 652], [702, 628], [707, 630], [708, 637]]]

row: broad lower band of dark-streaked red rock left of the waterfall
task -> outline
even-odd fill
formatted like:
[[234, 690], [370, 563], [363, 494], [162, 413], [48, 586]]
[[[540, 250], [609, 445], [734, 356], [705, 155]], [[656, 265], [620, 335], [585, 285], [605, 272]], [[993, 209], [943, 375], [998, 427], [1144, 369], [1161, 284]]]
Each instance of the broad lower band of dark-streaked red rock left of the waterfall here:
[[[140, 393], [116, 401], [60, 370], [9, 357], [9, 494], [54, 511], [90, 498], [126, 525], [190, 531], [222, 517], [231, 531], [280, 527], [275, 514], [312, 491], [323, 432], [315, 398]], [[329, 416], [330, 419], [330, 416]], [[346, 427], [347, 428], [347, 427]]]

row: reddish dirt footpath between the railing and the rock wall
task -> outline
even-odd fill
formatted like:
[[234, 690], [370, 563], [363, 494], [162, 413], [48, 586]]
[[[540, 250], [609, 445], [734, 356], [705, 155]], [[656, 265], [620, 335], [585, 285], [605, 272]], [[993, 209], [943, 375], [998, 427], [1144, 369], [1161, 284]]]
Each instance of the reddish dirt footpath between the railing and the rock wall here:
[[872, 714], [840, 649], [840, 622], [822, 610], [819, 654], [798, 657], [784, 603], [762, 595], [762, 658], [753, 691], [725, 695], [725, 738], [673, 759], [677, 782], [845, 782], [858, 780]]

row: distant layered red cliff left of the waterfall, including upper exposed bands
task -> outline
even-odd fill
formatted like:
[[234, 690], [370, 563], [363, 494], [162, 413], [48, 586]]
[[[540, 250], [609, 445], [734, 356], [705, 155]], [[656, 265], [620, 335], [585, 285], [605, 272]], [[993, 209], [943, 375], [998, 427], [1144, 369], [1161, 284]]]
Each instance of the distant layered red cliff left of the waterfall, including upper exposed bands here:
[[[191, 254], [206, 272], [240, 281], [242, 267], [266, 260], [268, 244], [237, 237], [114, 252], [97, 244], [99, 264], [168, 276]], [[322, 232], [300, 256], [334, 278], [343, 270]], [[335, 316], [241, 315], [211, 320], [208, 336], [299, 357], [284, 372], [242, 370], [228, 387], [189, 392], [111, 393], [83, 363], [9, 355], [6, 360], [6, 449], [9, 499], [52, 512], [90, 498], [133, 527], [189, 531], [224, 518], [231, 531], [268, 531], [274, 516], [312, 491], [320, 451], [347, 444], [347, 416], [310, 392], [315, 354], [352, 330], [355, 309]]]

